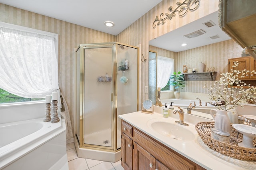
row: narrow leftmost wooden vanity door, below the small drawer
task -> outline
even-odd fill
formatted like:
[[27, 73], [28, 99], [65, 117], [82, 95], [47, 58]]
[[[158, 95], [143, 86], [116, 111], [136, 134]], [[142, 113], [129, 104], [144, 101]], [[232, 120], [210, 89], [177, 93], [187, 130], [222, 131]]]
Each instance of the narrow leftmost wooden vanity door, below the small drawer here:
[[121, 165], [125, 170], [132, 170], [132, 139], [122, 133]]

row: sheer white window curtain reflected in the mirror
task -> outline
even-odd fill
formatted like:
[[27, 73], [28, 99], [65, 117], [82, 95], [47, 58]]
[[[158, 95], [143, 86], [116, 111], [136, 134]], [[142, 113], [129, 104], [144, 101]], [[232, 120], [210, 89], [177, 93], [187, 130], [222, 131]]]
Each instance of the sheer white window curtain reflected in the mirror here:
[[167, 57], [157, 57], [157, 87], [161, 89], [169, 82], [174, 69], [174, 59]]

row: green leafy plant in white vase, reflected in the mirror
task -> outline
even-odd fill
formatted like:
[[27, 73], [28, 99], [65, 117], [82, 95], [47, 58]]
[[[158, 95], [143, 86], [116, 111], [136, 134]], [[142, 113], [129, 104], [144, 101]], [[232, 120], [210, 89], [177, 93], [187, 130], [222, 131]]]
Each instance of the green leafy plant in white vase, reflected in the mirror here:
[[185, 78], [184, 75], [179, 71], [178, 73], [173, 72], [170, 76], [170, 85], [174, 86], [174, 96], [176, 99], [180, 98], [179, 88], [183, 89], [185, 87]]

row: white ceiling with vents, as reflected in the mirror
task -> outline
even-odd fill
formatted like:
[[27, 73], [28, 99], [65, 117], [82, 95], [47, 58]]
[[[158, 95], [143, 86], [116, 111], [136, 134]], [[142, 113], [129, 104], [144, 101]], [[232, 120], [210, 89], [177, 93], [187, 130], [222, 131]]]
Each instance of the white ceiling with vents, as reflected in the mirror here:
[[[208, 28], [203, 23], [210, 20], [213, 21], [216, 25]], [[172, 20], [168, 22], [172, 22]], [[206, 33], [194, 38], [184, 37], [184, 35], [198, 31], [200, 29], [204, 30]], [[210, 37], [214, 35], [219, 35], [220, 38], [210, 39]], [[149, 44], [169, 51], [179, 52], [204, 45], [218, 43], [228, 39], [231, 38], [218, 26], [218, 11], [216, 11], [212, 14], [209, 14], [208, 16], [200, 18], [199, 20], [188, 23], [187, 25], [166, 33], [165, 35], [157, 37], [156, 39], [151, 40]], [[181, 46], [183, 43], [186, 43], [187, 45]]]

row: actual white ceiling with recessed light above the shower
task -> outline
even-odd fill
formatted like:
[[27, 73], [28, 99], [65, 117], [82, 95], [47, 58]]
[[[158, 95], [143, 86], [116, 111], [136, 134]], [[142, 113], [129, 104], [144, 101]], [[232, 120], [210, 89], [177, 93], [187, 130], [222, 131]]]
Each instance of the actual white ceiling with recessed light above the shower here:
[[[162, 0], [0, 0], [23, 10], [118, 35]], [[106, 27], [105, 21], [115, 23]]]

